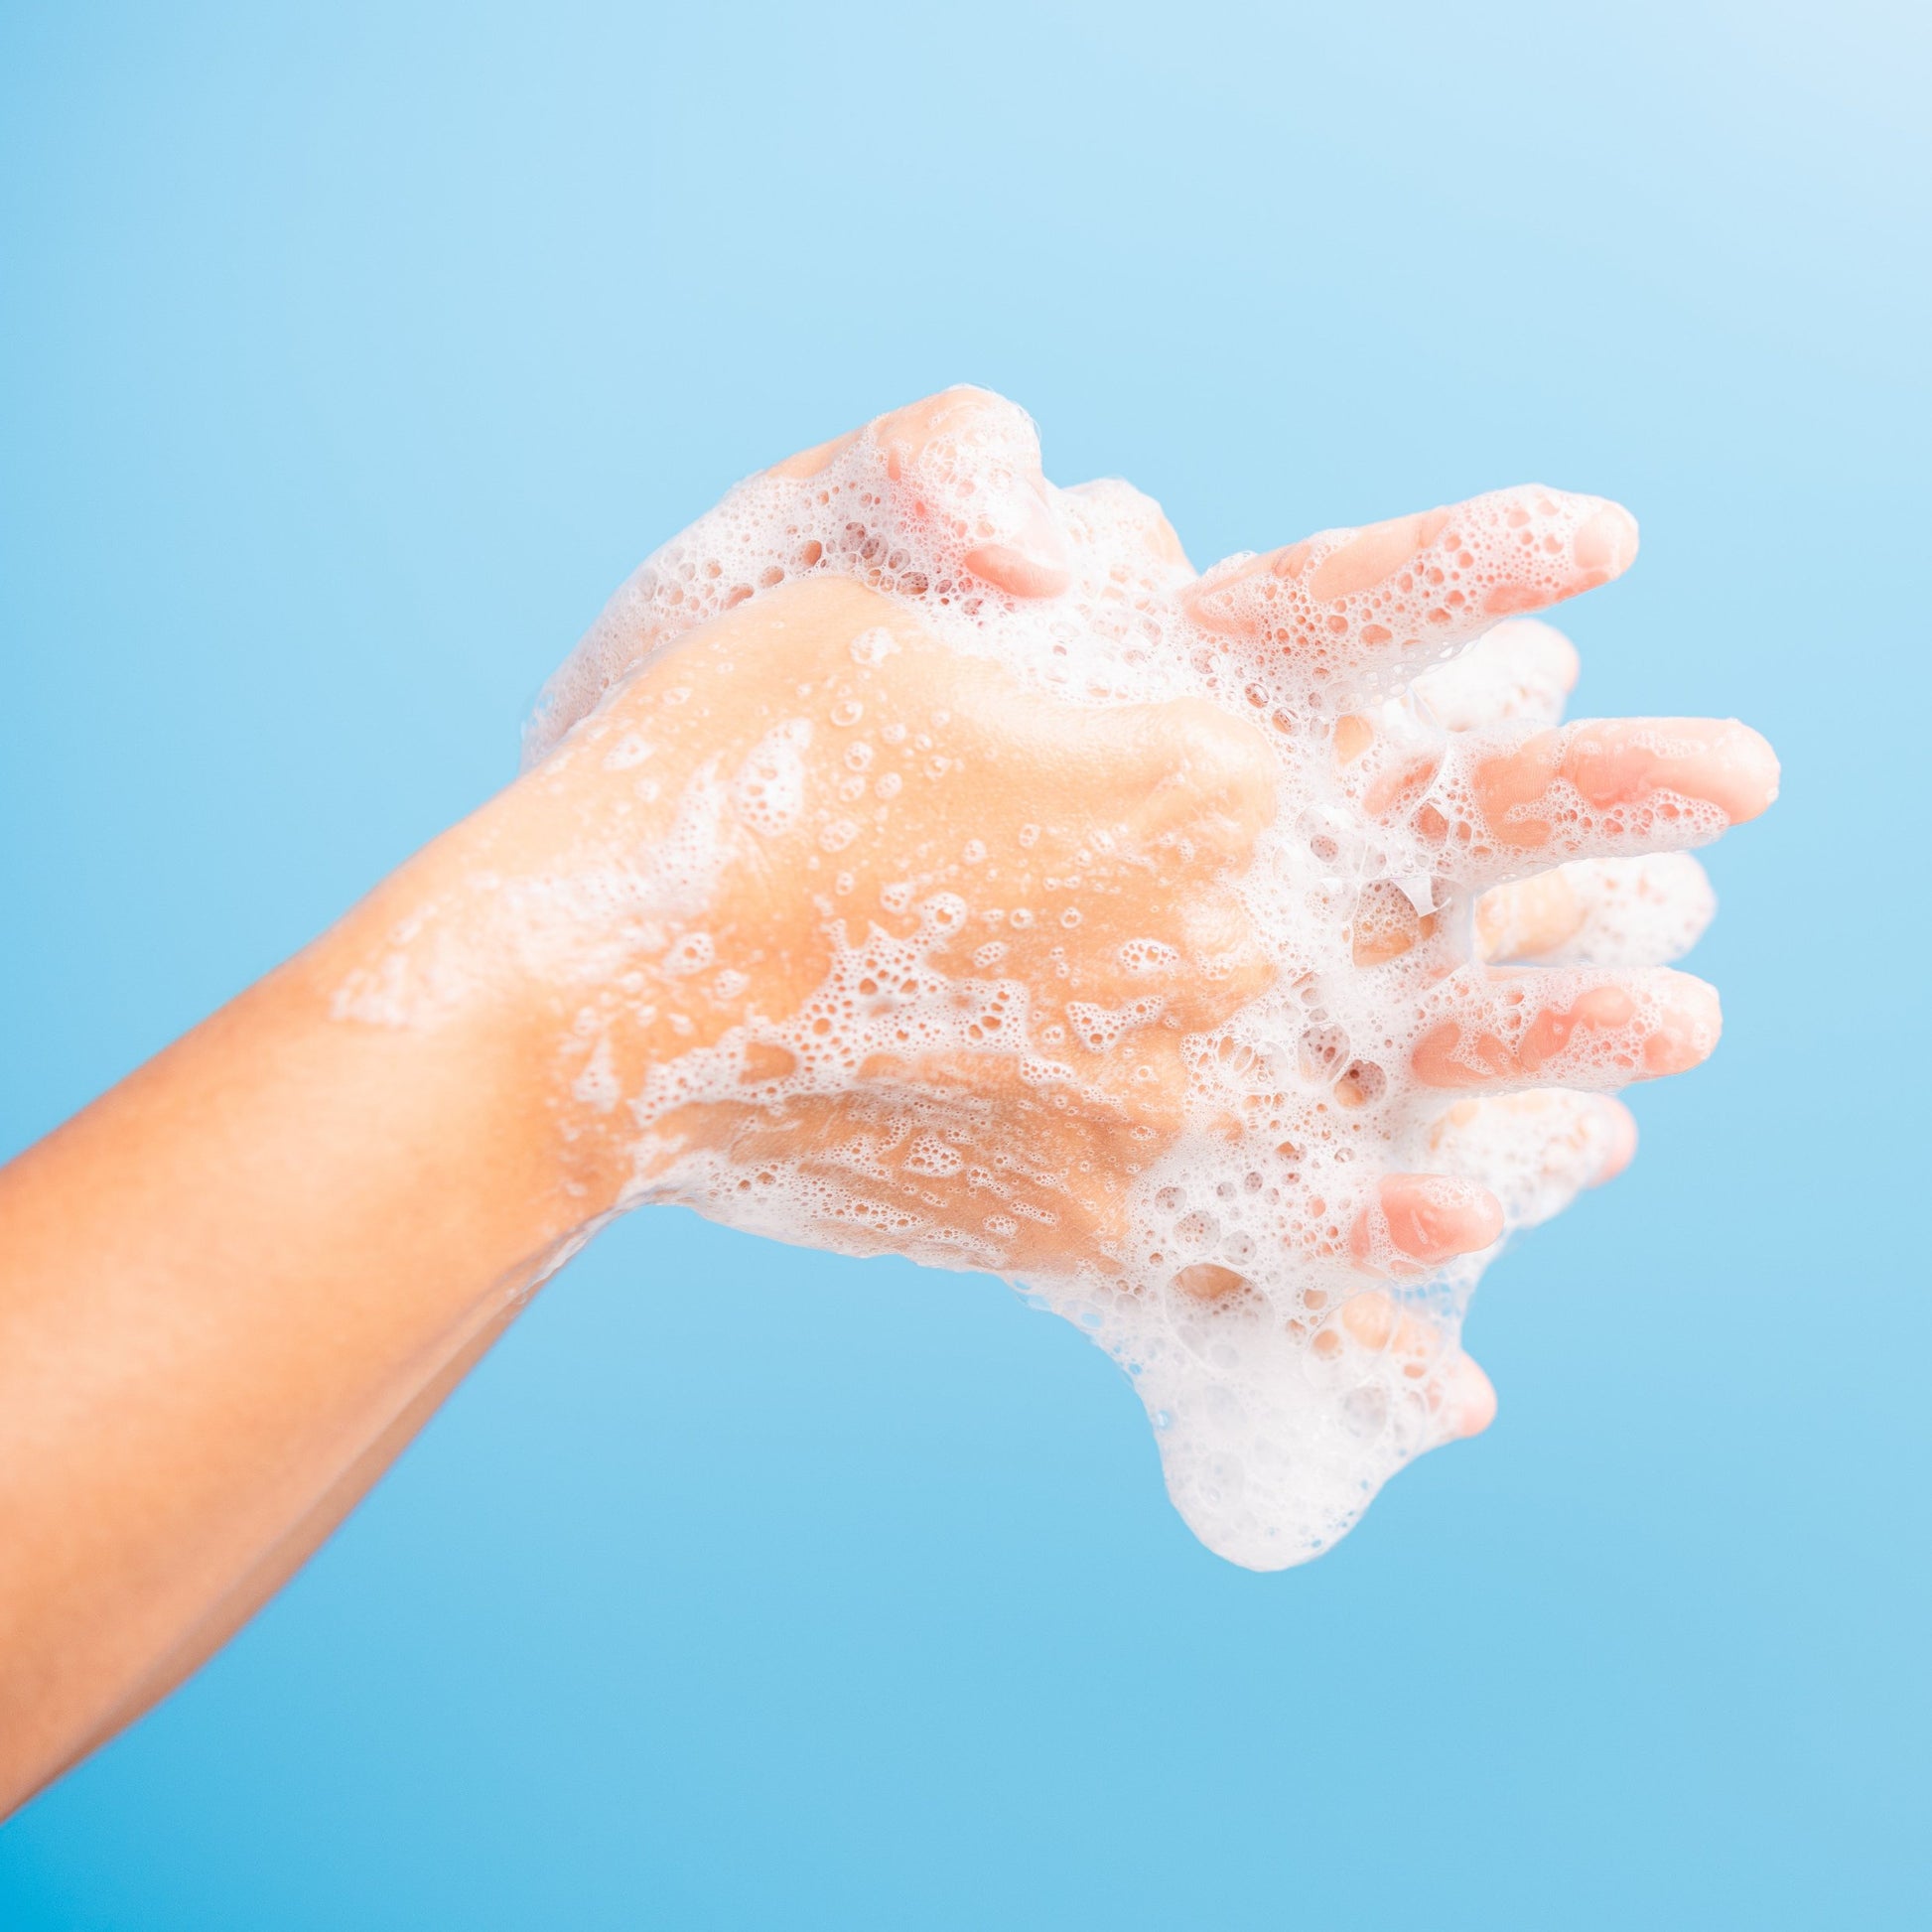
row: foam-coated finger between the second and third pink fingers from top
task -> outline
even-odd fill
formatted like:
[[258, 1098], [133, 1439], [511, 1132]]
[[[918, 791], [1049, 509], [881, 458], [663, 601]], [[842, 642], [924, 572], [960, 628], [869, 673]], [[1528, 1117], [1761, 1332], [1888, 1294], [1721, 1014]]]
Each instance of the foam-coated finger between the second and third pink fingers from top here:
[[1484, 893], [1476, 945], [1486, 960], [1669, 966], [1716, 910], [1718, 895], [1689, 852], [1578, 858]]

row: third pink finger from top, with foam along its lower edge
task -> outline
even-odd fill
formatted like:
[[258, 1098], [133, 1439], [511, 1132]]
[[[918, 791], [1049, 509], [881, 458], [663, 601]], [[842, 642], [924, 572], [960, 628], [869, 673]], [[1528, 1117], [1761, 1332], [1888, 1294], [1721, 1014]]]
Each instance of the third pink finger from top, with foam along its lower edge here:
[[1706, 1061], [1716, 987], [1652, 968], [1453, 974], [1426, 1003], [1410, 1065], [1426, 1086], [1609, 1090]]

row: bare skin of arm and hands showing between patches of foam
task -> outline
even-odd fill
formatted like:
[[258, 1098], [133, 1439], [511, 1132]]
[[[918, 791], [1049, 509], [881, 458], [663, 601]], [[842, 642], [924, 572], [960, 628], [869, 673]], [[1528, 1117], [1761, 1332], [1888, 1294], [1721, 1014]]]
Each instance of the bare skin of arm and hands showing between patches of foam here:
[[[875, 433], [916, 479], [925, 442], [983, 402], [947, 392]], [[838, 446], [779, 473], [810, 479]], [[1321, 597], [1372, 599], [1420, 570], [1445, 529], [1455, 535], [1455, 514], [1356, 533], [1308, 585], [1296, 576], [1306, 547], [1242, 566], [1244, 582], [1293, 589], [1281, 638], [1293, 651], [1306, 641], [1294, 626], [1320, 616]], [[1634, 554], [1634, 526], [1615, 506], [1588, 510], [1578, 527], [1575, 582], [1559, 595]], [[1007, 537], [972, 568], [1012, 597], [1057, 595], [1080, 566], [1049, 518], [1020, 520]], [[1182, 562], [1151, 506], [1146, 543], [1150, 570]], [[1221, 620], [1271, 609], [1265, 597], [1242, 605], [1231, 582], [1202, 580], [1208, 603], [1221, 597]], [[1526, 585], [1497, 595], [1517, 611], [1534, 601]], [[896, 647], [862, 663], [854, 638], [879, 628]], [[1331, 630], [1312, 636], [1333, 651]], [[1012, 902], [1036, 904], [1047, 877], [1080, 867], [1092, 891], [1078, 927], [1041, 920], [1001, 933], [999, 974], [1026, 987], [1037, 1014], [1142, 991], [1122, 978], [1124, 939], [1151, 937], [1184, 962], [1161, 989], [1182, 1030], [1215, 1024], [1267, 981], [1227, 883], [1273, 811], [1258, 726], [1196, 701], [1057, 705], [949, 651], [908, 607], [829, 574], [645, 641], [659, 655], [547, 761], [0, 1169], [0, 1808], [224, 1642], [533, 1287], [674, 1159], [723, 1153], [748, 1186], [769, 1151], [808, 1169], [821, 1161], [854, 1198], [877, 1192], [881, 1215], [854, 1244], [893, 1246], [883, 1209], [895, 1179], [920, 1173], [920, 1146], [893, 1142], [879, 1122], [910, 1086], [968, 1155], [954, 1173], [920, 1173], [939, 1219], [985, 1221], [974, 1167], [1018, 1204], [991, 1265], [1047, 1264], [1119, 1225], [1122, 1171], [1180, 1124], [1175, 1028], [1142, 1028], [1121, 1053], [1066, 1037], [1080, 1080], [1059, 1101], [999, 1053], [881, 1051], [840, 1092], [800, 1101], [782, 1150], [767, 1148], [777, 1130], [755, 1097], [709, 1094], [665, 1109], [639, 1153], [609, 1094], [643, 1090], [732, 1028], [794, 1018], [833, 962], [842, 904], [873, 908], [895, 881], [916, 881], [902, 914], [867, 914], [906, 937], [918, 902], [960, 867], [997, 873]], [[871, 796], [887, 765], [904, 773], [891, 802], [856, 815], [837, 864], [804, 823], [740, 831], [701, 906], [626, 910], [639, 864], [678, 850], [680, 800], [707, 771], [740, 771], [804, 686], [862, 707]], [[889, 728], [900, 724], [895, 748]], [[1743, 726], [1673, 723], [1667, 753], [1638, 736], [1594, 724], [1499, 746], [1468, 732], [1497, 873], [1555, 856], [1555, 819], [1538, 804], [1557, 779], [1636, 802], [1667, 782], [1731, 821], [1776, 792], [1776, 761]], [[626, 750], [639, 742], [653, 748], [641, 767]], [[858, 742], [856, 728], [813, 734], [800, 753], [810, 800], [844, 796]], [[1378, 765], [1374, 724], [1339, 728], [1337, 757], [1374, 773], [1378, 810], [1414, 810], [1412, 775]], [[972, 838], [985, 848], [978, 860], [962, 856]], [[1513, 923], [1495, 914], [1488, 929], [1555, 931], [1575, 908], [1540, 925], [1530, 910]], [[692, 970], [699, 931], [730, 974]], [[1399, 922], [1374, 939], [1403, 943]], [[1592, 1032], [1629, 1036], [1634, 1078], [1681, 1070], [1716, 1037], [1716, 997], [1687, 976], [1584, 974], [1565, 987], [1546, 1005], [1520, 968], [1453, 976], [1418, 1036], [1418, 1072], [1445, 1090], [1445, 1107], [1522, 1105], [1536, 1095], [1499, 1095], [1561, 1084], [1551, 1070]], [[781, 1061], [757, 1076], [777, 1078]], [[854, 1142], [871, 1150], [871, 1182], [852, 1179], [842, 1150]], [[1381, 1271], [1403, 1275], [1480, 1250], [1499, 1229], [1482, 1188], [1389, 1175], [1345, 1244], [1364, 1269], [1374, 1252]], [[1213, 1300], [1238, 1285], [1217, 1273], [1180, 1287]], [[1364, 1347], [1414, 1358], [1416, 1374], [1441, 1352], [1439, 1337], [1372, 1287], [1335, 1320]], [[1495, 1397], [1472, 1362], [1457, 1352], [1430, 1372], [1449, 1434], [1488, 1424]]]

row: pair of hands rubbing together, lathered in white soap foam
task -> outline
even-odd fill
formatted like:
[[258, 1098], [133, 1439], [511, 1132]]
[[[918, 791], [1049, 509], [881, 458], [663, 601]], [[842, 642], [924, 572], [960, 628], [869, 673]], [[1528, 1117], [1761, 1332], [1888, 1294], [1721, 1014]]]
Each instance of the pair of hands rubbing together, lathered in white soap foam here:
[[[1698, 875], [1642, 854], [1760, 811], [1762, 740], [1553, 728], [1542, 626], [1432, 668], [1634, 549], [1522, 489], [1196, 578], [976, 390], [742, 485], [553, 680], [469, 848], [585, 1215], [1024, 1279], [1134, 1368], [1217, 1549], [1321, 1548], [1493, 1412], [1474, 1258], [1629, 1157], [1598, 1095], [1716, 1043], [1654, 964]], [[344, 1010], [429, 997], [423, 929]]]

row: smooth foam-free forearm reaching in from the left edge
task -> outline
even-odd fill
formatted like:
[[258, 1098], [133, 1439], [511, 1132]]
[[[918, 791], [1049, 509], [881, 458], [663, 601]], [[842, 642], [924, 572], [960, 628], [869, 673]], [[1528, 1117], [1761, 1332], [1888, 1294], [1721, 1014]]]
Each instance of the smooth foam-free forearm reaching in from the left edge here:
[[0, 1171], [0, 1808], [245, 1619], [585, 1213], [479, 974], [423, 1024], [338, 993], [431, 854]]

